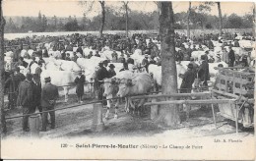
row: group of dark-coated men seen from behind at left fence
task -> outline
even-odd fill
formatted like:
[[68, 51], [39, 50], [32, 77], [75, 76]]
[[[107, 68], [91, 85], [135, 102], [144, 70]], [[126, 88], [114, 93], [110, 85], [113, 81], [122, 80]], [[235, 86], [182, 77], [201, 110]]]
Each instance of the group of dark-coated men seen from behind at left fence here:
[[[41, 113], [42, 128], [46, 131], [48, 110], [54, 109], [58, 97], [57, 86], [50, 83], [50, 78], [45, 78], [45, 85], [41, 86], [40, 77], [37, 74], [27, 74], [26, 77], [20, 73], [20, 68], [15, 72], [10, 72], [10, 78], [5, 81], [5, 87], [8, 88], [10, 109], [15, 106], [23, 110], [23, 131], [29, 132], [29, 117], [36, 109]], [[51, 128], [55, 128], [55, 113], [49, 112]]]

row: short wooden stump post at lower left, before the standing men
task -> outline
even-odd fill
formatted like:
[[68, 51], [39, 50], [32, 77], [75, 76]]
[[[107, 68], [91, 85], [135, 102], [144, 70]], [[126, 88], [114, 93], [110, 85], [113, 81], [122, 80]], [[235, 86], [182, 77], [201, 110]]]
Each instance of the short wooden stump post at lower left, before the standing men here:
[[32, 115], [30, 116], [30, 134], [32, 137], [37, 137], [39, 136], [39, 131], [40, 131], [40, 120], [39, 120], [40, 115]]

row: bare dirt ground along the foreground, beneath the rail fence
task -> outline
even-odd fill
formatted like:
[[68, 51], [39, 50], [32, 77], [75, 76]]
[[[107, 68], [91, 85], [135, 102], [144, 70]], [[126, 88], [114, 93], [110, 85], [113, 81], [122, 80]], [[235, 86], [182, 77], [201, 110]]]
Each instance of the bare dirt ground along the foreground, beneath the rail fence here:
[[[55, 108], [63, 108], [70, 105], [79, 105], [76, 102], [76, 96], [70, 95], [69, 101], [64, 102], [64, 97], [59, 99]], [[90, 95], [85, 95], [84, 103], [94, 101]], [[82, 105], [76, 108], [56, 111], [56, 128], [54, 130], [47, 128], [47, 132], [40, 132], [42, 138], [53, 137], [77, 137], [77, 136], [152, 136], [175, 134], [180, 137], [201, 137], [222, 134], [235, 134], [235, 125], [232, 121], [225, 120], [219, 113], [218, 107], [215, 107], [217, 128], [213, 121], [211, 108], [204, 110], [199, 106], [193, 106], [190, 112], [189, 120], [185, 121], [185, 113], [181, 112], [181, 124], [175, 130], [160, 127], [150, 119], [150, 109], [146, 110], [143, 116], [127, 114], [124, 107], [121, 106], [118, 111], [118, 119], [113, 118], [114, 109], [110, 110], [108, 120], [104, 119], [106, 108], [103, 108], [104, 130], [100, 133], [91, 131], [93, 120], [93, 104]], [[22, 115], [22, 109], [15, 108], [6, 111], [6, 117]], [[41, 125], [41, 120], [40, 120]], [[241, 127], [241, 126], [240, 126]], [[239, 134], [243, 136], [253, 136], [254, 130], [241, 130]], [[4, 137], [26, 137], [30, 133], [22, 131], [22, 118], [7, 120], [7, 134]]]

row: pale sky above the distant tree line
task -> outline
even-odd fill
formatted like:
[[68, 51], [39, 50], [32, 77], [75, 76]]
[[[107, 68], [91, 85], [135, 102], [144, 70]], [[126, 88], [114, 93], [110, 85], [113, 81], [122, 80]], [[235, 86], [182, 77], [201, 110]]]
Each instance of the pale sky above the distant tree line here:
[[[90, 2], [91, 3], [91, 2]], [[192, 2], [192, 7], [197, 6], [199, 2]], [[111, 6], [117, 10], [122, 3], [120, 1], [107, 1], [106, 6]], [[141, 12], [157, 11], [158, 7], [153, 1], [130, 1], [129, 8]], [[78, 0], [4, 0], [3, 1], [3, 14], [4, 16], [32, 16], [37, 17], [38, 12], [46, 17], [83, 17], [86, 15], [92, 18], [100, 13], [99, 3], [96, 2], [92, 11], [87, 8], [90, 5], [82, 6]], [[252, 2], [221, 2], [223, 15], [231, 15], [233, 13], [243, 16], [247, 13], [252, 13]], [[187, 1], [175, 1], [172, 4], [174, 13], [186, 12], [188, 9]], [[218, 15], [217, 6], [212, 7], [211, 15]]]

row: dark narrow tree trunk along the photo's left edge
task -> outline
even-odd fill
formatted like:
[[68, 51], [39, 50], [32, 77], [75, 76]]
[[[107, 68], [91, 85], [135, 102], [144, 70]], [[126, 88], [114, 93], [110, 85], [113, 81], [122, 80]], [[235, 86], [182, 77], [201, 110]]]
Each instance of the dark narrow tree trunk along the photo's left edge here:
[[0, 108], [1, 108], [1, 132], [6, 133], [6, 121], [4, 113], [4, 27], [5, 20], [2, 10], [2, 1], [0, 1]]

